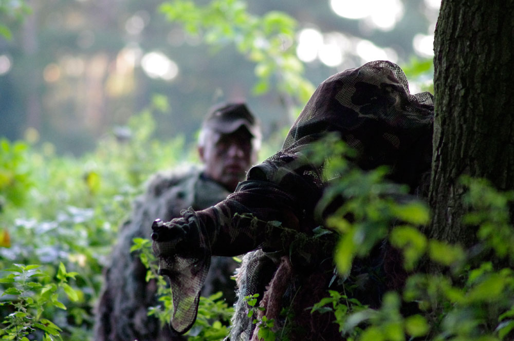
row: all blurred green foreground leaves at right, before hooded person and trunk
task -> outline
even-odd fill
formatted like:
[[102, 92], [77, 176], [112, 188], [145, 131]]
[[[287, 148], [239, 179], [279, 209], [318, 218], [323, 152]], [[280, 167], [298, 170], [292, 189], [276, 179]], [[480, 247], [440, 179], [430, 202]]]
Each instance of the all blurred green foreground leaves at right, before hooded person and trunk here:
[[[464, 224], [477, 236], [476, 245], [465, 250], [429, 239], [418, 230], [430, 222], [426, 204], [384, 181], [387, 170], [353, 169], [345, 157], [349, 150], [337, 137], [315, 146], [311, 158], [326, 155], [327, 150], [333, 153], [317, 160], [330, 183], [320, 207], [343, 198], [341, 207], [327, 219], [328, 227], [341, 235], [335, 251], [340, 276], [347, 278], [355, 257], [368, 257], [383, 239], [402, 251], [403, 267], [410, 276], [404, 288], [383, 295], [377, 309], [363, 306], [344, 291], [331, 290], [312, 311], [334, 314], [349, 340], [510, 339], [514, 328], [514, 277], [509, 267], [514, 245], [509, 212], [513, 193], [499, 193], [482, 179], [462, 179], [469, 210]], [[416, 273], [420, 265], [425, 270]], [[402, 307], [411, 307], [407, 316]]]

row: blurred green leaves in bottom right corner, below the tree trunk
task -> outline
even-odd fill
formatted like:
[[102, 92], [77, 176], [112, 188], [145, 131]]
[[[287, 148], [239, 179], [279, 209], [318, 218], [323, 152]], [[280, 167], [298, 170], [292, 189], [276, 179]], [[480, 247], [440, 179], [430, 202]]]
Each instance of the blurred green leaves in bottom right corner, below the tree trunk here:
[[[379, 309], [355, 311], [355, 307], [360, 308], [358, 301], [350, 307], [346, 296], [331, 291], [330, 297], [321, 300], [313, 310], [333, 312], [348, 339], [510, 339], [514, 328], [514, 276], [510, 268], [505, 268], [508, 264], [505, 258], [514, 235], [508, 210], [512, 193], [499, 193], [482, 179], [462, 181], [469, 189], [465, 202], [470, 212], [465, 223], [478, 226], [475, 247], [464, 250], [460, 245], [428, 240], [413, 225], [395, 226], [389, 240], [403, 251], [407, 271], [416, 270], [418, 260], [423, 257], [438, 264], [436, 269], [443, 269], [435, 273], [412, 273], [401, 292], [389, 292], [382, 297]], [[409, 215], [402, 217], [406, 216]], [[425, 213], [415, 216], [427, 217]], [[411, 222], [415, 223], [416, 219]], [[350, 225], [345, 224], [343, 233], [352, 231]], [[501, 239], [495, 238], [494, 233], [501, 234]], [[483, 252], [487, 258], [479, 258], [478, 266], [474, 266], [477, 252]], [[417, 313], [404, 317], [400, 308], [409, 302], [415, 302]]]

